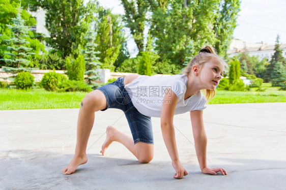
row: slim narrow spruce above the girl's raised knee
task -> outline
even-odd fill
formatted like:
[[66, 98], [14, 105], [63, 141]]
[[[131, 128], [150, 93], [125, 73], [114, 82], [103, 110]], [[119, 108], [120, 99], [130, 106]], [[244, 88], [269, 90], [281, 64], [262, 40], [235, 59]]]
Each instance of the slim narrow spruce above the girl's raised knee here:
[[97, 57], [97, 54], [99, 54], [99, 51], [95, 51], [95, 48], [97, 47], [97, 44], [95, 43], [95, 34], [93, 31], [89, 31], [87, 33], [87, 45], [85, 45], [85, 49], [83, 50], [84, 54], [84, 60], [85, 60], [85, 74], [88, 75], [87, 82], [95, 87], [97, 83], [94, 81], [97, 81], [100, 79], [100, 73], [97, 71], [97, 69], [100, 68], [101, 63], [99, 62], [99, 57]]

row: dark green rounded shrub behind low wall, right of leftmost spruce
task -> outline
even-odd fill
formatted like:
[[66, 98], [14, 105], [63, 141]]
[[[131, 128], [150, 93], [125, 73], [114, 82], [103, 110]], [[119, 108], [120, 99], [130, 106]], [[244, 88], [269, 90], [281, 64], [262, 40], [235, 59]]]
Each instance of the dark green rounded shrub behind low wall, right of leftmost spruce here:
[[39, 68], [44, 70], [65, 70], [65, 60], [58, 53], [48, 53], [39, 60]]

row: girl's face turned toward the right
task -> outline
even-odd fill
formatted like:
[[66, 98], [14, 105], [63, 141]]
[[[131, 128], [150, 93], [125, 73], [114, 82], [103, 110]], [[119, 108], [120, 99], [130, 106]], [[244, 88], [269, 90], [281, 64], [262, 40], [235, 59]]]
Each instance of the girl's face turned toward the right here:
[[223, 74], [223, 69], [222, 64], [215, 59], [211, 59], [201, 67], [198, 76], [204, 89], [213, 90], [217, 87]]

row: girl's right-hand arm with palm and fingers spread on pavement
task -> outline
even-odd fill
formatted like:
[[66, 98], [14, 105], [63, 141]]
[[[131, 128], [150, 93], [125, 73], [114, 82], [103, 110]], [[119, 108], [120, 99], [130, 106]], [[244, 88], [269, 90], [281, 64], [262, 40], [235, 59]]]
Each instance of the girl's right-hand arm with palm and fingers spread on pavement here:
[[223, 168], [207, 167], [207, 135], [204, 128], [203, 111], [191, 111], [190, 117], [196, 156], [202, 172], [213, 175], [216, 175], [217, 172], [220, 172], [222, 175], [226, 175], [227, 173]]

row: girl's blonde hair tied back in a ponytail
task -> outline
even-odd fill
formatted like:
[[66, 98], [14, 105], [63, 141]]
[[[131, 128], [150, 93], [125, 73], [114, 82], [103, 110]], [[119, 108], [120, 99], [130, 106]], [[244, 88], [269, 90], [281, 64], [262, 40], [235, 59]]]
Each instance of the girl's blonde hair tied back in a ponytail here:
[[[206, 62], [211, 59], [215, 59], [225, 68], [227, 67], [226, 62], [220, 58], [215, 49], [211, 46], [206, 46], [198, 52], [196, 56], [189, 62], [188, 66], [184, 69], [183, 74], [189, 75], [192, 71], [193, 66], [203, 66]], [[215, 96], [215, 90], [205, 89], [206, 99], [211, 100]]]

